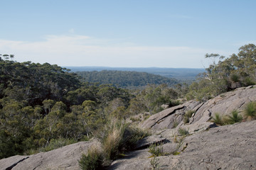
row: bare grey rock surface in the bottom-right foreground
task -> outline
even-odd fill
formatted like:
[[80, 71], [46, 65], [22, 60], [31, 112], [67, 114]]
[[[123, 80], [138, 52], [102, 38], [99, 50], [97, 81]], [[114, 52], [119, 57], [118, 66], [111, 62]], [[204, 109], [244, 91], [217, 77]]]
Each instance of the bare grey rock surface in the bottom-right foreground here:
[[[253, 120], [190, 135], [183, 140], [186, 148], [181, 154], [157, 157], [160, 169], [256, 169], [255, 125]], [[150, 169], [151, 159], [135, 154], [113, 162], [109, 169]]]

